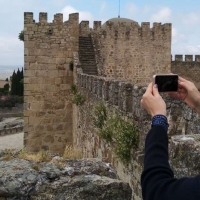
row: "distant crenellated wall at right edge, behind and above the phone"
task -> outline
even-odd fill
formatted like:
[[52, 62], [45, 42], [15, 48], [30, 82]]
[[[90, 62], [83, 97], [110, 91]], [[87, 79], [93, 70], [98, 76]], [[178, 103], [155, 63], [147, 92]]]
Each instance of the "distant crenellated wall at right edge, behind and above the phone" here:
[[200, 55], [175, 55], [171, 71], [195, 83], [200, 90]]

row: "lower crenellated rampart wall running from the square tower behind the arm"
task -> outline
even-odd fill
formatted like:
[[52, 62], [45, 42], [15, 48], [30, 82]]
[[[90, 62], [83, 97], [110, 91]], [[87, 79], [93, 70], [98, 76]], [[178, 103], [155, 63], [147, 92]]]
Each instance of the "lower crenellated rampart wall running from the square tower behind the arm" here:
[[[117, 170], [120, 179], [130, 184], [133, 191], [132, 199], [142, 199], [140, 175], [143, 168], [145, 137], [151, 123], [150, 116], [140, 106], [140, 99], [146, 88], [86, 74], [78, 74], [77, 84], [80, 92], [87, 96], [87, 101], [77, 108], [75, 145], [83, 149], [84, 157], [99, 157], [109, 161]], [[200, 165], [196, 160], [200, 151], [197, 145], [199, 136], [195, 134], [200, 133], [200, 118], [183, 102], [173, 100], [166, 95], [163, 97], [167, 102], [170, 160], [175, 175], [177, 177], [196, 175], [199, 172]], [[134, 122], [139, 129], [139, 146], [136, 151], [132, 151], [132, 160], [129, 164], [122, 163], [114, 154], [112, 144], [106, 143], [98, 136], [98, 129], [94, 126], [94, 108], [102, 102], [108, 114], [114, 111], [124, 120]], [[183, 137], [184, 135], [186, 136]], [[194, 152], [196, 153], [193, 154]], [[187, 156], [183, 157], [185, 153]]]

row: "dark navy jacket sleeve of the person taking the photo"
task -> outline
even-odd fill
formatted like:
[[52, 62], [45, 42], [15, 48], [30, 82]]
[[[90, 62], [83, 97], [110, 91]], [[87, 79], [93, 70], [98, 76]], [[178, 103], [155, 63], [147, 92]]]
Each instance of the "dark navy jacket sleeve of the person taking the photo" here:
[[153, 126], [145, 142], [143, 200], [200, 200], [200, 176], [176, 179], [168, 160], [167, 131]]

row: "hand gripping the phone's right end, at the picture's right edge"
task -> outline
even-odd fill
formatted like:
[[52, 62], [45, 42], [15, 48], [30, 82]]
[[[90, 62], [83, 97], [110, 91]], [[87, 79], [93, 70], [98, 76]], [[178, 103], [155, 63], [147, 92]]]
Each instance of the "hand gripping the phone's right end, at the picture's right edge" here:
[[182, 99], [187, 105], [196, 110], [197, 113], [200, 109], [200, 93], [194, 83], [179, 76], [178, 78], [178, 91], [169, 92], [171, 97]]

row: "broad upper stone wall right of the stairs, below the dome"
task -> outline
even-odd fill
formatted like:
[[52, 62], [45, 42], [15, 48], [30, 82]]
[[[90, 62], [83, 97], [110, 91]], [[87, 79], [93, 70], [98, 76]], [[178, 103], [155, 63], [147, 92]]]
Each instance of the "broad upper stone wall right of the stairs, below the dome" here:
[[143, 22], [130, 26], [107, 21], [94, 22], [95, 46], [101, 52], [103, 75], [138, 85], [148, 83], [153, 74], [171, 69], [171, 24]]

